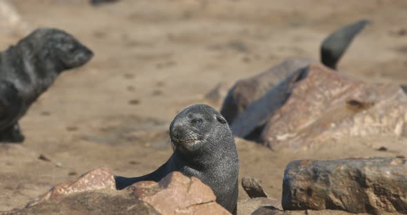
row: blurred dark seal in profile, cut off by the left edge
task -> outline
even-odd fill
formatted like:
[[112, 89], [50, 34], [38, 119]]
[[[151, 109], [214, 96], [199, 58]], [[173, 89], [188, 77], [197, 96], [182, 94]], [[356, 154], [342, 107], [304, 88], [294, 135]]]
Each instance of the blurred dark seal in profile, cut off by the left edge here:
[[19, 119], [64, 70], [93, 56], [75, 37], [39, 28], [0, 53], [0, 141], [22, 142]]

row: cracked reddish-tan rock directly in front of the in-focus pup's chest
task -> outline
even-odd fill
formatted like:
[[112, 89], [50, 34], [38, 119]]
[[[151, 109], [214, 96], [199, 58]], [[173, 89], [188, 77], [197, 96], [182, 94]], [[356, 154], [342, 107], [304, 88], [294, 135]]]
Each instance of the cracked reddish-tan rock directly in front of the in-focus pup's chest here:
[[159, 183], [141, 181], [128, 187], [138, 200], [161, 214], [230, 214], [218, 205], [210, 187], [198, 178], [172, 172]]

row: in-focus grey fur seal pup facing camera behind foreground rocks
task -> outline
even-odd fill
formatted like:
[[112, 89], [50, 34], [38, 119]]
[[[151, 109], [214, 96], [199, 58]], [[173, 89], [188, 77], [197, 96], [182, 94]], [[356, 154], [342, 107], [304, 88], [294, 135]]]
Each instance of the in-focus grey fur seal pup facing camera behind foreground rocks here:
[[170, 124], [170, 139], [174, 153], [166, 163], [145, 176], [115, 176], [117, 189], [138, 181], [160, 181], [170, 172], [179, 171], [199, 178], [212, 188], [219, 205], [235, 213], [239, 157], [226, 119], [210, 105], [190, 105]]

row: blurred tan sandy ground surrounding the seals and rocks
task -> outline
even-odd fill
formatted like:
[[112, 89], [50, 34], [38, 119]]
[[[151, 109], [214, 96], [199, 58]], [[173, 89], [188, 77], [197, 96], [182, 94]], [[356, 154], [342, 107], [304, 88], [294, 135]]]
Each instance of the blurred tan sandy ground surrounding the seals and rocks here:
[[[324, 37], [358, 19], [372, 24], [350, 47], [340, 72], [407, 83], [407, 1], [122, 0], [101, 7], [75, 0], [12, 2], [30, 28], [66, 30], [95, 57], [62, 74], [32, 105], [21, 120], [22, 145], [0, 144], [0, 210], [23, 207], [95, 167], [122, 176], [155, 170], [172, 153], [167, 130], [177, 111], [204, 102], [220, 81], [252, 76], [287, 57], [319, 59]], [[1, 37], [2, 49], [19, 40]], [[237, 145], [241, 176], [258, 177], [272, 198], [281, 198], [289, 161], [407, 156], [407, 147], [400, 147], [406, 142], [372, 137], [307, 152]], [[380, 146], [389, 150], [379, 152]], [[239, 195], [247, 197], [242, 190]]]

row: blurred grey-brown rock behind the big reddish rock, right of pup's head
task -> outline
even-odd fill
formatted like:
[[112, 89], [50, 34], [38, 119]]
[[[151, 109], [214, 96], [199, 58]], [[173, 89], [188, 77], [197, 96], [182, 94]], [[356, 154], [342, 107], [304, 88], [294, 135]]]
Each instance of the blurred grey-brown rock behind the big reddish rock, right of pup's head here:
[[250, 103], [263, 97], [287, 76], [311, 62], [313, 61], [308, 59], [288, 59], [256, 76], [237, 81], [226, 95], [221, 107], [222, 116], [232, 123]]

